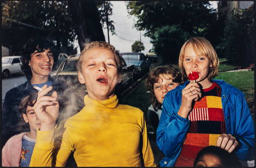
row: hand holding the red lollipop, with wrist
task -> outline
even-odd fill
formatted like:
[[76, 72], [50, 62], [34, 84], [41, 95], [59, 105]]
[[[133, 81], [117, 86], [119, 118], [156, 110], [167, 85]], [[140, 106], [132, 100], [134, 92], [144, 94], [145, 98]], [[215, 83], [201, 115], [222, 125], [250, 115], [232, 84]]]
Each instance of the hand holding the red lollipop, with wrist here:
[[198, 83], [190, 82], [182, 89], [182, 100], [178, 114], [187, 118], [188, 113], [192, 110], [193, 101], [198, 101], [202, 97], [201, 89]]

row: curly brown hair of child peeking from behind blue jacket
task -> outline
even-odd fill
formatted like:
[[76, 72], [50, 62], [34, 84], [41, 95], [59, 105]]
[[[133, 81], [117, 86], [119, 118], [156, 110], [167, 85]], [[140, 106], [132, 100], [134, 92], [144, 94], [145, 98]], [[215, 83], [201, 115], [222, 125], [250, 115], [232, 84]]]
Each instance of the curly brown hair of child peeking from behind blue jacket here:
[[161, 108], [162, 104], [160, 104], [160, 102], [157, 101], [154, 93], [154, 83], [159, 82], [160, 80], [159, 76], [161, 74], [172, 75], [172, 80], [175, 83], [182, 84], [184, 82], [184, 76], [181, 74], [180, 70], [176, 67], [166, 65], [166, 66], [159, 66], [151, 70], [149, 73], [149, 77], [147, 79], [147, 86], [151, 92], [151, 103], [155, 111], [157, 109], [162, 109]]

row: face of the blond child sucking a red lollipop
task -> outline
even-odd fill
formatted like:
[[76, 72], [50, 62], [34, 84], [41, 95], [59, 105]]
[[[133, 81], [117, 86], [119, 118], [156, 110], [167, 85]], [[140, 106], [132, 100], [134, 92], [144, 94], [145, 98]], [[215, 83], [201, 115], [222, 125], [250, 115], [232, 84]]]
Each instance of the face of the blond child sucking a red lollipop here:
[[188, 44], [185, 48], [183, 66], [187, 76], [191, 72], [197, 72], [199, 74], [199, 78], [196, 82], [203, 85], [204, 82], [210, 81], [208, 78], [211, 67], [209, 58], [204, 55], [197, 55], [191, 44]]

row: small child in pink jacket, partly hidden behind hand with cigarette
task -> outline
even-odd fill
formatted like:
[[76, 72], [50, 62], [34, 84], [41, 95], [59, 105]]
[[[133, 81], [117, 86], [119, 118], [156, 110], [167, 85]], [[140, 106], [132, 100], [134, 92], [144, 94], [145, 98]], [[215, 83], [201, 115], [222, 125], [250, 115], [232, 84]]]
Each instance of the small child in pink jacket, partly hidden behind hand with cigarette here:
[[36, 117], [33, 101], [36, 100], [36, 92], [25, 96], [19, 105], [20, 130], [26, 131], [11, 137], [2, 149], [2, 166], [28, 167], [33, 153], [36, 130], [40, 127], [40, 121]]

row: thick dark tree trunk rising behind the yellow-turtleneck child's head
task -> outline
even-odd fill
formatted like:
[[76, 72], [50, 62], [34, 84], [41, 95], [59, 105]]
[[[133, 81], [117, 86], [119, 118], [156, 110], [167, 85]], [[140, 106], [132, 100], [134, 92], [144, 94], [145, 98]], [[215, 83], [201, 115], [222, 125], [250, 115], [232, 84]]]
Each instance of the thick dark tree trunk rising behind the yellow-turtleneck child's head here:
[[95, 2], [78, 0], [69, 0], [68, 2], [80, 50], [83, 50], [84, 43], [105, 41]]

